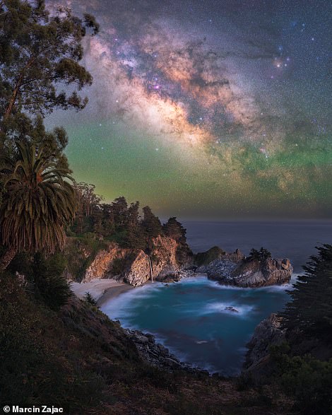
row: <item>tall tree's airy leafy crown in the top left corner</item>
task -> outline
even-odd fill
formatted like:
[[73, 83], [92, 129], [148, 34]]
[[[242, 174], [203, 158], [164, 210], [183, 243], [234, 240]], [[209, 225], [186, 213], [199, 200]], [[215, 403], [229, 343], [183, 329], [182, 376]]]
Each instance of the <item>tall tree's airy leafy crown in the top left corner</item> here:
[[54, 108], [85, 107], [87, 98], [77, 91], [92, 82], [79, 64], [88, 27], [97, 33], [93, 16], [82, 21], [64, 7], [49, 13], [45, 0], [1, 1], [0, 122], [5, 130], [9, 118], [22, 112], [46, 115]]

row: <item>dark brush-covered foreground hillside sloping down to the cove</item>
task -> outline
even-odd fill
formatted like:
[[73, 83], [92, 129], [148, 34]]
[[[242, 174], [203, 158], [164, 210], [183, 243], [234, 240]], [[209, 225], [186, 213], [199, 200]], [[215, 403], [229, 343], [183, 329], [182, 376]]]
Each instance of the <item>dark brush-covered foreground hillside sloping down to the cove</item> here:
[[[86, 301], [60, 310], [31, 284], [0, 280], [0, 402], [48, 402], [65, 414], [285, 414], [274, 388], [241, 392], [239, 380], [149, 366], [133, 341]], [[275, 398], [278, 397], [278, 398]]]

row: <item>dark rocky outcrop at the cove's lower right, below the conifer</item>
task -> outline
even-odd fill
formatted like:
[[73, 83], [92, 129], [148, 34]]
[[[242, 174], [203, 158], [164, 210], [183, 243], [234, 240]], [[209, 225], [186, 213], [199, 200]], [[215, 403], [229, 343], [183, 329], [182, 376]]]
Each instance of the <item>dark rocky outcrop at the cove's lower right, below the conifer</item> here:
[[248, 352], [244, 362], [244, 375], [261, 380], [271, 371], [269, 347], [285, 341], [285, 329], [280, 325], [281, 317], [269, 315], [256, 327], [247, 344]]

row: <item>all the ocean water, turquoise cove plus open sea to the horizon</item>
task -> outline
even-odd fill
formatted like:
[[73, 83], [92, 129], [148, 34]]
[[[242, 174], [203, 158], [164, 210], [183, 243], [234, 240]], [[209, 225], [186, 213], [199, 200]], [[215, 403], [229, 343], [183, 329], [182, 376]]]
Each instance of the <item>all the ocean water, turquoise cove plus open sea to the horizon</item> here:
[[[189, 245], [201, 252], [213, 245], [225, 250], [251, 247], [288, 257], [295, 267], [313, 255], [314, 246], [332, 241], [332, 223], [203, 223], [186, 222]], [[169, 286], [148, 284], [103, 305], [109, 317], [124, 327], [155, 335], [183, 361], [211, 372], [239, 373], [246, 344], [256, 325], [271, 312], [283, 309], [287, 286], [234, 288], [209, 281], [206, 276], [184, 279]], [[227, 310], [227, 307], [237, 311]]]

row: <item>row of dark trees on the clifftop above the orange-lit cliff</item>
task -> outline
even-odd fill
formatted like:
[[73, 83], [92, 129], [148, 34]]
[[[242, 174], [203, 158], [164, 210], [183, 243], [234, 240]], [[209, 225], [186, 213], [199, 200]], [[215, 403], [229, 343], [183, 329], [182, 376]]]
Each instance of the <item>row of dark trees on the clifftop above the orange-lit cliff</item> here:
[[74, 188], [78, 211], [69, 235], [81, 238], [86, 233], [94, 233], [99, 240], [114, 241], [120, 247], [144, 250], [147, 253], [153, 248], [153, 238], [167, 235], [179, 244], [179, 263], [191, 254], [186, 245], [186, 230], [176, 218], [170, 218], [162, 226], [149, 206], [143, 207], [141, 218], [138, 201], [128, 204], [121, 196], [107, 204], [102, 202], [102, 197], [95, 194], [95, 186], [90, 183], [74, 183]]

